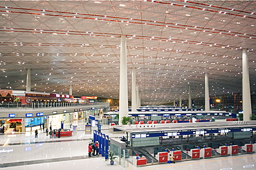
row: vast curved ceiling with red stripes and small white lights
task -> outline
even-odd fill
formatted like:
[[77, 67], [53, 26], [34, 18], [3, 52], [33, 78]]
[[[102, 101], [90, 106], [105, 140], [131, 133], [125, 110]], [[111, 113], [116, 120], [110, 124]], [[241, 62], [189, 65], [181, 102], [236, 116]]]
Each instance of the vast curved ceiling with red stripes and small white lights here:
[[119, 97], [127, 36], [142, 104], [241, 92], [242, 49], [256, 91], [255, 1], [0, 1], [0, 88]]

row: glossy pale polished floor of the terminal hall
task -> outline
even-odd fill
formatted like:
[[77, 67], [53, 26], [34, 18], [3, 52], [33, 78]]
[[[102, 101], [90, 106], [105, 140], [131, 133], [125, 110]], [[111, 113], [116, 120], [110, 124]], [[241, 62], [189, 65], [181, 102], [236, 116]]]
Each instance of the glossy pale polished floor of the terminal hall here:
[[[69, 138], [50, 139], [46, 133], [40, 131], [38, 138], [35, 138], [35, 134], [30, 132], [0, 135], [0, 169], [256, 169], [256, 153], [145, 167], [134, 167], [132, 164], [122, 167], [117, 162], [110, 165], [109, 161], [105, 161], [101, 156], [88, 157], [87, 146], [93, 135], [84, 134], [82, 122], [78, 123], [77, 127], [77, 134]], [[118, 134], [110, 134], [107, 127], [105, 129], [102, 130], [103, 133], [109, 134], [113, 138], [119, 136]]]

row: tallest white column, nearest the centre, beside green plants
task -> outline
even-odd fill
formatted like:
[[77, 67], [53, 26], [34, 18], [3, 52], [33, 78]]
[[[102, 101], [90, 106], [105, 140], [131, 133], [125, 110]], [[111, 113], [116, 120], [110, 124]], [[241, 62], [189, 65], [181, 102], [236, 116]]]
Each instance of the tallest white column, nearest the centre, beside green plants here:
[[126, 36], [121, 36], [120, 48], [120, 89], [119, 89], [119, 124], [122, 117], [128, 116], [128, 88], [127, 88], [127, 52]]

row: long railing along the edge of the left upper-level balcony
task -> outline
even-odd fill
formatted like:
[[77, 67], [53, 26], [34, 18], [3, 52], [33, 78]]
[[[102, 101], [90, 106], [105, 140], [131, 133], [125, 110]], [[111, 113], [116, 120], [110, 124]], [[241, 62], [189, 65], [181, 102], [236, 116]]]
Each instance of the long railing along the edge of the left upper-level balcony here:
[[31, 104], [21, 103], [2, 103], [1, 108], [56, 108], [56, 107], [75, 107], [75, 106], [95, 106], [98, 104], [109, 104], [107, 102], [93, 102], [93, 103], [70, 103], [70, 102], [33, 102]]

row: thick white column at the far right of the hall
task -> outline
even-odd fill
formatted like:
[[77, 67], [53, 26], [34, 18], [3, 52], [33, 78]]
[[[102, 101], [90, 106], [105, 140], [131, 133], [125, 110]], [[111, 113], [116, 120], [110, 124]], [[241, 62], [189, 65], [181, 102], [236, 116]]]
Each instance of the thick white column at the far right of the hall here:
[[249, 65], [248, 65], [248, 56], [247, 49], [243, 49], [242, 54], [243, 62], [243, 111], [244, 111], [244, 120], [250, 120], [250, 115], [252, 114], [252, 106], [250, 102], [250, 77], [249, 77]]

